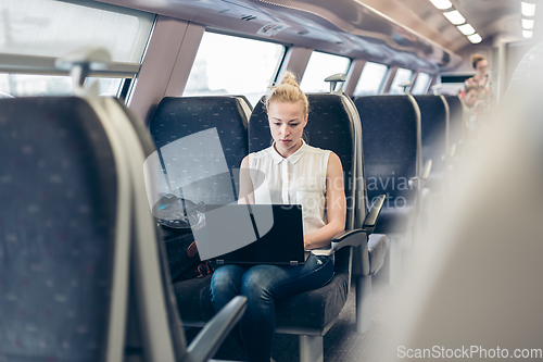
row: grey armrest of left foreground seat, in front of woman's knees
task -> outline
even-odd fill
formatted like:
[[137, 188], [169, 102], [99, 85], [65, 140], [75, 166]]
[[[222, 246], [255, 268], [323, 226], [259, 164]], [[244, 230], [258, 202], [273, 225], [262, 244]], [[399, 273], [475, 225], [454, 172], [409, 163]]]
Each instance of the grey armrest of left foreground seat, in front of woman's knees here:
[[213, 358], [231, 328], [239, 322], [247, 309], [247, 297], [237, 296], [228, 302], [187, 348], [182, 362], [204, 362]]

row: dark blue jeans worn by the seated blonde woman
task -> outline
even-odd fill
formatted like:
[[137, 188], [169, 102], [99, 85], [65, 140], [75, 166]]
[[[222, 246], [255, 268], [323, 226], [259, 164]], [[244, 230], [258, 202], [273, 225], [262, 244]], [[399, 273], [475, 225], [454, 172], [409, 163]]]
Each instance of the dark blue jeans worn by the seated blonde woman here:
[[[211, 301], [219, 311], [238, 295], [248, 298], [240, 322], [241, 341], [251, 362], [269, 362], [275, 335], [275, 301], [319, 288], [333, 275], [331, 257], [310, 254], [305, 265], [224, 265], [211, 279]], [[236, 332], [235, 332], [236, 334]]]

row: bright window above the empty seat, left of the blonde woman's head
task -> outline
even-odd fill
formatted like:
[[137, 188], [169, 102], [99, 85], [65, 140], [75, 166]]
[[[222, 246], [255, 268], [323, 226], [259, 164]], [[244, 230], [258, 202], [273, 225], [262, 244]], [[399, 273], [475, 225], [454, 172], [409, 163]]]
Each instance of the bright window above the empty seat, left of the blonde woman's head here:
[[275, 42], [206, 32], [182, 95], [244, 95], [254, 105], [272, 85], [285, 51]]

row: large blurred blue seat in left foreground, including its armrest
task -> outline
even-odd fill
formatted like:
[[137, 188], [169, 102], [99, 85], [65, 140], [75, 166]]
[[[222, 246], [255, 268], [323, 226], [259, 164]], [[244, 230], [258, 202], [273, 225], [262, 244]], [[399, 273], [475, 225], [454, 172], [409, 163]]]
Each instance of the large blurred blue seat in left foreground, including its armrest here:
[[244, 311], [233, 300], [187, 348], [144, 195], [152, 143], [119, 105], [0, 100], [2, 360], [206, 361]]

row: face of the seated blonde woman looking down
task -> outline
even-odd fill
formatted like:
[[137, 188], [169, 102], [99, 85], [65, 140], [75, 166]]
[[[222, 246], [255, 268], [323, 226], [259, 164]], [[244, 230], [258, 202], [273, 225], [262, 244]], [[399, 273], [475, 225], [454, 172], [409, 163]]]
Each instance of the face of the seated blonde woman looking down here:
[[276, 150], [283, 158], [288, 158], [302, 146], [307, 114], [301, 102], [272, 102], [268, 105], [268, 122]]

